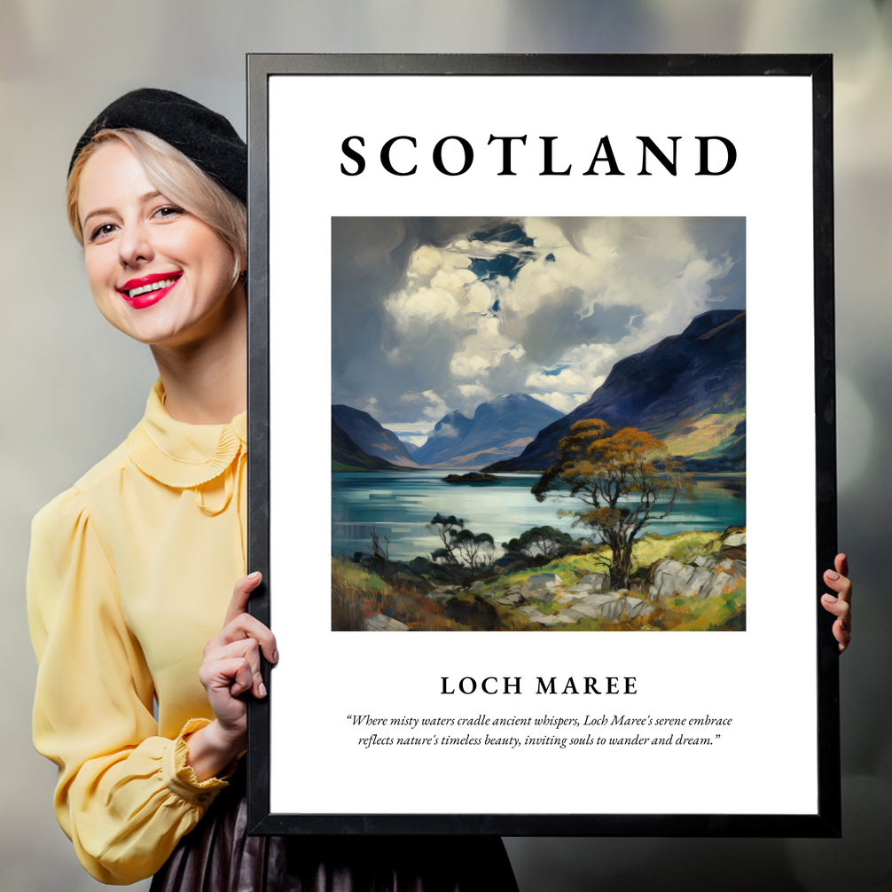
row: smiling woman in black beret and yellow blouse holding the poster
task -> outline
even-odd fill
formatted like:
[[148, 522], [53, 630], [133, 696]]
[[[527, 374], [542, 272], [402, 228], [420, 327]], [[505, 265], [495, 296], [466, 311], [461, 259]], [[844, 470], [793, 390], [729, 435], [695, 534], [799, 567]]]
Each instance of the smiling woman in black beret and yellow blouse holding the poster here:
[[163, 90], [111, 103], [72, 157], [95, 303], [160, 377], [127, 441], [34, 521], [34, 739], [56, 815], [106, 883], [516, 890], [498, 838], [245, 837], [245, 697], [266, 696], [260, 654], [278, 658], [246, 613], [246, 180], [229, 122]]

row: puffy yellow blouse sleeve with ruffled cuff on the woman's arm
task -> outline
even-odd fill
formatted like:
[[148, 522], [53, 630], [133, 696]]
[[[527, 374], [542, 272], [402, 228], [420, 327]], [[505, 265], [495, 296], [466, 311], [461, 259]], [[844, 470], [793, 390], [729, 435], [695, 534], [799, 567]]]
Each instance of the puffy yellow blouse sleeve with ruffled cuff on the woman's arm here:
[[158, 736], [153, 681], [76, 489], [34, 519], [28, 615], [38, 664], [34, 745], [59, 769], [56, 818], [96, 880], [143, 880], [227, 783], [199, 782], [186, 764], [183, 736], [207, 719], [187, 723], [177, 739]]

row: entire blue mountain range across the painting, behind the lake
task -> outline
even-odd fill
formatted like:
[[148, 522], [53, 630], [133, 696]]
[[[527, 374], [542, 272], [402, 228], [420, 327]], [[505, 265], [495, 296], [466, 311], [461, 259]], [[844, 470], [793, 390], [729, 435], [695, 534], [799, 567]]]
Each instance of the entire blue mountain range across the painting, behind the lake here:
[[368, 412], [332, 406], [332, 459], [396, 470], [424, 466], [487, 472], [543, 471], [558, 441], [583, 418], [618, 430], [639, 427], [663, 440], [693, 472], [746, 470], [747, 315], [709, 310], [646, 351], [620, 359], [591, 398], [569, 415], [526, 393], [454, 411], [421, 446], [402, 442]]

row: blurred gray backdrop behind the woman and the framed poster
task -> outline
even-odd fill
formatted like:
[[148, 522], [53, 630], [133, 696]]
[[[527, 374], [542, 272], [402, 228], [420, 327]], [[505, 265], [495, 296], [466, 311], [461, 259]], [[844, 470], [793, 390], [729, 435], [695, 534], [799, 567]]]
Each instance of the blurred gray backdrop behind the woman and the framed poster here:
[[[95, 112], [133, 87], [177, 89], [223, 111], [244, 132], [249, 51], [836, 54], [840, 547], [857, 581], [855, 643], [841, 682], [845, 838], [512, 839], [508, 850], [524, 892], [718, 883], [892, 888], [884, 545], [892, 408], [890, 44], [892, 4], [884, 0], [3, 0], [0, 888], [77, 892], [96, 885], [54, 822], [54, 769], [30, 745], [29, 520], [123, 439], [155, 375], [148, 351], [113, 331], [90, 300], [62, 212], [69, 153]], [[785, 500], [791, 507], [778, 518], [778, 547], [789, 549], [791, 572], [799, 572], [797, 539], [809, 531], [797, 527], [793, 493]], [[596, 790], [607, 770], [593, 765], [578, 782]], [[624, 770], [647, 773], [648, 764]]]

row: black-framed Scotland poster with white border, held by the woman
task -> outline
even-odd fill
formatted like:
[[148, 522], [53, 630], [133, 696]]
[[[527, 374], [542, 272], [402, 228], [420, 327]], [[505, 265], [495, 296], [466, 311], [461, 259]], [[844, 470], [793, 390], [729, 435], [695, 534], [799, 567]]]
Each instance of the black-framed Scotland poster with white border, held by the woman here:
[[254, 832], [837, 835], [830, 58], [248, 70]]

